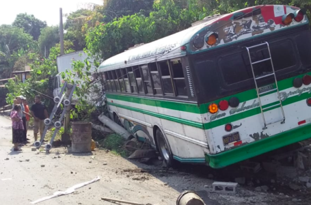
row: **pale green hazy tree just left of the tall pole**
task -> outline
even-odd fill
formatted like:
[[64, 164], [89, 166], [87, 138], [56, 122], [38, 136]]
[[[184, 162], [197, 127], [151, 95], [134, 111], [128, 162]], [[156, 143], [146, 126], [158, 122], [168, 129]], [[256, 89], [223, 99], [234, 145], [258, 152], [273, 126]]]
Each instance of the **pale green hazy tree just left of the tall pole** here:
[[41, 29], [38, 42], [41, 55], [44, 57], [49, 56], [50, 49], [59, 43], [59, 27], [45, 27]]

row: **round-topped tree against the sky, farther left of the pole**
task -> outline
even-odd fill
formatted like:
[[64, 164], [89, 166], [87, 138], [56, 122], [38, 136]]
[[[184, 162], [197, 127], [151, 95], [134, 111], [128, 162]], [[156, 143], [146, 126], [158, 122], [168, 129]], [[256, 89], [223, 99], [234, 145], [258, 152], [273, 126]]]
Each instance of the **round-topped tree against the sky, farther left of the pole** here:
[[12, 24], [14, 27], [24, 29], [26, 33], [33, 36], [34, 40], [38, 40], [40, 36], [40, 30], [46, 27], [46, 22], [35, 18], [33, 15], [18, 14]]

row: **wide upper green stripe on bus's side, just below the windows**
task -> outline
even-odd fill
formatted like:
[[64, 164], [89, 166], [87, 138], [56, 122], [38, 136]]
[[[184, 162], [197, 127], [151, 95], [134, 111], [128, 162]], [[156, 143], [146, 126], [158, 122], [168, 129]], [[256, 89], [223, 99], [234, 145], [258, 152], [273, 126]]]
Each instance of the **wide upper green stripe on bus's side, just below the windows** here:
[[134, 102], [143, 105], [150, 105], [154, 107], [163, 107], [167, 109], [174, 109], [178, 111], [185, 111], [189, 113], [198, 113], [200, 114], [200, 109], [198, 105], [191, 104], [187, 102], [174, 102], [168, 100], [158, 100], [158, 99], [148, 99], [144, 97], [137, 97], [137, 96], [121, 96], [118, 94], [106, 94], [107, 98], [115, 99], [115, 100], [122, 100], [126, 102]]

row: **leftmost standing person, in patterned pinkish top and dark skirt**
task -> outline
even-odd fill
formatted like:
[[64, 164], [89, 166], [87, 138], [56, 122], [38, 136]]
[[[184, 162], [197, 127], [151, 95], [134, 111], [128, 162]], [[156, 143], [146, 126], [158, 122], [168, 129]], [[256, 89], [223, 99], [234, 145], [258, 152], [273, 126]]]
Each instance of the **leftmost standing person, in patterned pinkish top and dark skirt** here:
[[23, 120], [21, 116], [18, 114], [21, 111], [21, 105], [14, 105], [13, 111], [11, 112], [11, 120], [12, 120], [12, 143], [14, 144], [14, 151], [21, 151], [18, 149], [18, 145], [23, 143], [23, 133], [24, 133], [24, 126]]

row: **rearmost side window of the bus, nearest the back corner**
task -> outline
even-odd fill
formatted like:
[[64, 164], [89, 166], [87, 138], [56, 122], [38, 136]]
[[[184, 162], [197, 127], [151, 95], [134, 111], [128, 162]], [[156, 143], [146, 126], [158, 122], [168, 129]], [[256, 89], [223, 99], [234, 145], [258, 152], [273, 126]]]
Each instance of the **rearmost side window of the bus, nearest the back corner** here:
[[184, 72], [180, 59], [171, 60], [172, 78], [176, 89], [176, 96], [188, 96]]

